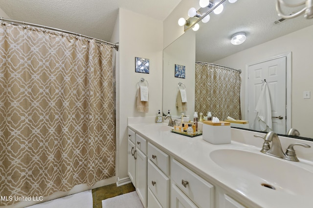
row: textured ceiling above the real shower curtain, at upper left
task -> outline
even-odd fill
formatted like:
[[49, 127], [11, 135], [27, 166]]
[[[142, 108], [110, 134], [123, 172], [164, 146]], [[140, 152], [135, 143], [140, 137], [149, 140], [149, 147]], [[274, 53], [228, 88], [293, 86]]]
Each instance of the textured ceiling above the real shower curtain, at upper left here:
[[10, 19], [110, 41], [118, 8], [164, 20], [180, 0], [0, 0]]

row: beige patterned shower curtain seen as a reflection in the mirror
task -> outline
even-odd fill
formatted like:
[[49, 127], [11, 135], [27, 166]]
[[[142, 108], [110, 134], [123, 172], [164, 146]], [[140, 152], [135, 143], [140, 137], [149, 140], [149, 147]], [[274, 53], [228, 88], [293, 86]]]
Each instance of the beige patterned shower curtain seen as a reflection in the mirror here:
[[196, 62], [195, 111], [225, 120], [241, 119], [239, 71], [210, 63]]

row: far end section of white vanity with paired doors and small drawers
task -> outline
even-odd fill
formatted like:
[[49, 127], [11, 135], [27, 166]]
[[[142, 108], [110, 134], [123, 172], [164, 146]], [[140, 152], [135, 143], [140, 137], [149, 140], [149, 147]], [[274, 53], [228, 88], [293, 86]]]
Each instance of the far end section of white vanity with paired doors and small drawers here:
[[147, 207], [147, 140], [128, 129], [128, 175]]

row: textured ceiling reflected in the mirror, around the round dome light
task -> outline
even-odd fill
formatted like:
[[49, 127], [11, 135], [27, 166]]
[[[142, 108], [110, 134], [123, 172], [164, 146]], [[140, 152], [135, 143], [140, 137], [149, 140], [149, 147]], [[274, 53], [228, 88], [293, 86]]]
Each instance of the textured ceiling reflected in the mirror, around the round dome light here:
[[[303, 15], [273, 24], [275, 20], [281, 19], [277, 15], [275, 2], [275, 0], [238, 0], [236, 3], [225, 1], [224, 11], [220, 15], [212, 13], [209, 22], [200, 22], [200, 29], [196, 32], [196, 60], [214, 62], [313, 25], [313, 19], [305, 19]], [[284, 11], [290, 14], [299, 11], [299, 8], [284, 8]], [[246, 41], [241, 45], [232, 45], [230, 38], [238, 32], [246, 33]]]

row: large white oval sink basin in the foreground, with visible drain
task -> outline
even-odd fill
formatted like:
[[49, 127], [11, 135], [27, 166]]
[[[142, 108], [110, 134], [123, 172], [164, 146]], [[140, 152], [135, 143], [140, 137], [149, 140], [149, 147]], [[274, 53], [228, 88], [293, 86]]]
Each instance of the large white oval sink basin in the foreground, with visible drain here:
[[263, 153], [221, 149], [212, 151], [210, 158], [221, 168], [250, 178], [257, 186], [294, 195], [312, 195], [313, 172]]

